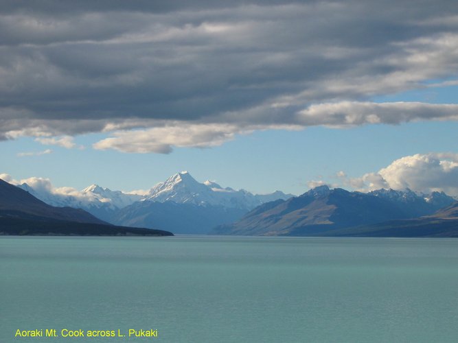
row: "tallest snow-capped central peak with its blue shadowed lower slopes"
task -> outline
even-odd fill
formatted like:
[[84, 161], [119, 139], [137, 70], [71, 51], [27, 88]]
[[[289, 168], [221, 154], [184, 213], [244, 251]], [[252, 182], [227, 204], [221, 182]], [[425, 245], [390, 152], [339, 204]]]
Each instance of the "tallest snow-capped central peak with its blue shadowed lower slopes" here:
[[290, 198], [277, 191], [265, 196], [241, 189], [222, 188], [216, 182], [197, 182], [187, 171], [152, 187], [146, 198], [113, 215], [117, 225], [173, 230], [174, 233], [204, 234], [220, 224], [239, 220], [264, 199]]

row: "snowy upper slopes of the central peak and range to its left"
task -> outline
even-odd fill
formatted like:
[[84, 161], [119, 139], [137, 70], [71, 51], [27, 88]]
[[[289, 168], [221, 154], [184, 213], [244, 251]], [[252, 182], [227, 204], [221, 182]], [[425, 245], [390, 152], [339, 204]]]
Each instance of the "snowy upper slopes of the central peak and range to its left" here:
[[54, 189], [49, 180], [41, 179], [33, 185], [18, 185], [36, 198], [51, 206], [73, 207], [84, 209], [102, 220], [112, 222], [116, 211], [124, 209], [135, 202], [175, 202], [176, 204], [194, 204], [197, 206], [221, 206], [227, 209], [249, 211], [266, 201], [279, 198], [288, 199], [293, 195], [277, 191], [267, 195], [253, 195], [249, 191], [236, 191], [230, 187], [222, 188], [215, 182], [196, 181], [187, 171], [171, 176], [160, 182], [146, 193], [139, 195], [112, 191], [98, 185], [91, 185], [82, 191], [70, 187]]

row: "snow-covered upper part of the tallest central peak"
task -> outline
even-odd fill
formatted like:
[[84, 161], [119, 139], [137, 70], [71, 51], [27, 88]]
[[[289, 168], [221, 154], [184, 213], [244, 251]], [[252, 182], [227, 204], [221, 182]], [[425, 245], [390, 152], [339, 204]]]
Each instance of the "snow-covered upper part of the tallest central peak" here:
[[222, 188], [209, 180], [197, 182], [187, 171], [175, 174], [150, 189], [144, 201], [195, 204], [198, 206], [223, 206], [236, 209], [254, 209], [270, 199], [288, 199], [292, 195], [277, 191], [273, 194], [253, 195], [249, 191]]

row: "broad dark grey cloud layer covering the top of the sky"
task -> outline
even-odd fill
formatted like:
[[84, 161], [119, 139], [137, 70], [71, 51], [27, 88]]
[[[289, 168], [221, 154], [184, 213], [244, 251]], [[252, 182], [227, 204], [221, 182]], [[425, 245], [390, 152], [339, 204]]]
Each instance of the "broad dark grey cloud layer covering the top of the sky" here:
[[[169, 152], [173, 141], [161, 137], [187, 125], [196, 140], [177, 146], [275, 126], [455, 118], [450, 108], [418, 104], [418, 116], [409, 107], [396, 119], [393, 107], [387, 115], [367, 99], [457, 76], [456, 1], [49, 0], [0, 8], [0, 139], [156, 128], [144, 143]], [[347, 112], [317, 111], [320, 104]], [[358, 120], [348, 119], [351, 111]]]

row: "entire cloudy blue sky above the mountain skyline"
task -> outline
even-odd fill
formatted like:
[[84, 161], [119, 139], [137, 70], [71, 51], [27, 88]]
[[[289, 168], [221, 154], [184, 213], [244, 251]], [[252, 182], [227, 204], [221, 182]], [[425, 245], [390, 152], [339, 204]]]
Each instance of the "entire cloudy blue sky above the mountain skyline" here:
[[458, 196], [456, 1], [1, 1], [0, 178]]

